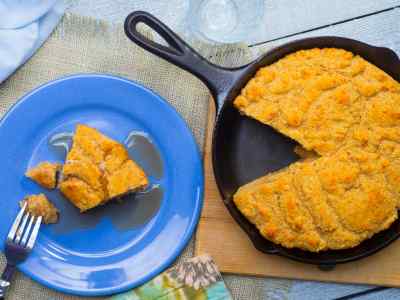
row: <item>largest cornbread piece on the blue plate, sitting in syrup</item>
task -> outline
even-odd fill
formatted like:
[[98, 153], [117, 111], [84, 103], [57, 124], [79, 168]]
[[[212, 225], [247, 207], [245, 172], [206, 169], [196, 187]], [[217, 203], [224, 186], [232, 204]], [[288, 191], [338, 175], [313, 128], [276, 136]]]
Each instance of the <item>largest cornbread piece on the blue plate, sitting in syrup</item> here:
[[147, 185], [144, 171], [123, 145], [94, 128], [77, 125], [59, 188], [81, 212]]

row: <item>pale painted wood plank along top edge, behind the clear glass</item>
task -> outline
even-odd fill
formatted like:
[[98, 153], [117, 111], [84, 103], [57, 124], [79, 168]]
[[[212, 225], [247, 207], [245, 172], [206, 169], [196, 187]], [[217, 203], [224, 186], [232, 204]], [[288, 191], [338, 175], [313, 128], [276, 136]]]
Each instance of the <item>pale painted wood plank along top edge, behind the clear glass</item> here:
[[[199, 1], [199, 0], [191, 0]], [[251, 0], [246, 0], [251, 1]], [[74, 0], [69, 11], [123, 22], [134, 10], [153, 13], [175, 31], [185, 31], [188, 0]], [[245, 3], [245, 0], [243, 0]], [[265, 0], [264, 20], [248, 44], [259, 43], [400, 5], [400, 0]]]

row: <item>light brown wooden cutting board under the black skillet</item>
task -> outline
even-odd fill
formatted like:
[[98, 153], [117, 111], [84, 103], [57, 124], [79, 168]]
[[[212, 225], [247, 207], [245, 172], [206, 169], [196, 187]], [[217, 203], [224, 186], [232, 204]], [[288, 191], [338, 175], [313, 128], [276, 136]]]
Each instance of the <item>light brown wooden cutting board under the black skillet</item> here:
[[210, 254], [220, 270], [243, 275], [296, 278], [400, 287], [400, 240], [378, 253], [331, 271], [257, 251], [222, 203], [211, 165], [215, 107], [210, 101], [204, 151], [204, 207], [197, 229], [196, 255]]

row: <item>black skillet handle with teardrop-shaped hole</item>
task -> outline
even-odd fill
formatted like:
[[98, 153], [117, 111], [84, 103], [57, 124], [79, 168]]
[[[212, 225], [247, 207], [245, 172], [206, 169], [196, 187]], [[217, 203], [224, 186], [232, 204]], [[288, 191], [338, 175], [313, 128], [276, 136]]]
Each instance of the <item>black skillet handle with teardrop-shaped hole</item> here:
[[[137, 30], [139, 23], [144, 23], [156, 31], [167, 42], [168, 46], [146, 38]], [[214, 97], [217, 112], [222, 107], [226, 94], [234, 86], [234, 82], [244, 69], [243, 67], [227, 69], [208, 62], [165, 24], [147, 12], [135, 11], [131, 13], [125, 20], [124, 28], [126, 35], [134, 43], [189, 71], [203, 81]]]

